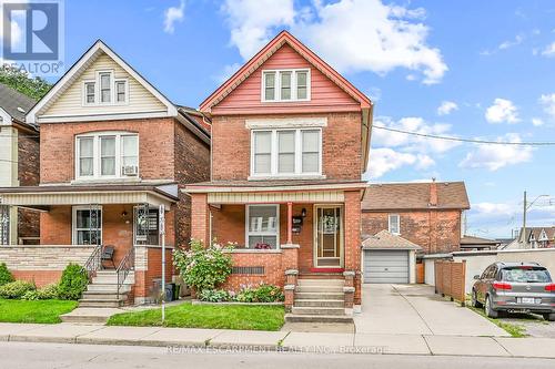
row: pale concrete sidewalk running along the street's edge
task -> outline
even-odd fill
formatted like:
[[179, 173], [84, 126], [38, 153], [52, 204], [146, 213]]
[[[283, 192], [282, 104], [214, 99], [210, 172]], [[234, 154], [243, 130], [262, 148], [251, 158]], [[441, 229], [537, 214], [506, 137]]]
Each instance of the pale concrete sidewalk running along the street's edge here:
[[0, 341], [555, 359], [555, 339], [0, 324]]

